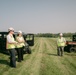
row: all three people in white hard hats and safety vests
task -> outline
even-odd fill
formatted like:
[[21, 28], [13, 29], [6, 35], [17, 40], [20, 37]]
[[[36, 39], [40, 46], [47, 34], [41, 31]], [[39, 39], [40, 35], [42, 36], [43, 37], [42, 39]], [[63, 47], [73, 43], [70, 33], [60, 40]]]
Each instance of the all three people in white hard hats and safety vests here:
[[[18, 31], [18, 35], [16, 39], [14, 39], [14, 29], [9, 28], [7, 35], [7, 49], [10, 53], [10, 66], [16, 68], [16, 55], [15, 48], [17, 48], [18, 53], [18, 62], [23, 60], [23, 48], [25, 46], [25, 40], [22, 36], [22, 31]], [[63, 38], [63, 34], [60, 33], [60, 37], [57, 39], [57, 54], [58, 56], [63, 56], [64, 46], [66, 44], [65, 38]]]

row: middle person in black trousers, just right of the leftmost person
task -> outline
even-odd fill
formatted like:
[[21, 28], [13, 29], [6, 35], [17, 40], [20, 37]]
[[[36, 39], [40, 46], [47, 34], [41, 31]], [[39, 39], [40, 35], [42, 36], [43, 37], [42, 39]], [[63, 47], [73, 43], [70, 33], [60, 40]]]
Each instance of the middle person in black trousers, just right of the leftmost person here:
[[18, 62], [21, 62], [21, 60], [23, 60], [23, 49], [25, 46], [25, 40], [22, 36], [22, 31], [18, 31], [16, 41], [18, 42], [17, 44]]

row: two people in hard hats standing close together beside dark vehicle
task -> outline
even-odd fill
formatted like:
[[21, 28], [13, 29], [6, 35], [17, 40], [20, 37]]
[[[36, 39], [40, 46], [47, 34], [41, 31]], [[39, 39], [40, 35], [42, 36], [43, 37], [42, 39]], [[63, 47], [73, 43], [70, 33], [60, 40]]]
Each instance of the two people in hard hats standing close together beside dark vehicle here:
[[23, 60], [23, 48], [25, 46], [25, 40], [22, 36], [22, 31], [18, 31], [16, 39], [13, 36], [14, 29], [11, 27], [8, 29], [7, 35], [7, 49], [10, 53], [10, 66], [16, 68], [16, 50], [18, 54], [18, 62]]

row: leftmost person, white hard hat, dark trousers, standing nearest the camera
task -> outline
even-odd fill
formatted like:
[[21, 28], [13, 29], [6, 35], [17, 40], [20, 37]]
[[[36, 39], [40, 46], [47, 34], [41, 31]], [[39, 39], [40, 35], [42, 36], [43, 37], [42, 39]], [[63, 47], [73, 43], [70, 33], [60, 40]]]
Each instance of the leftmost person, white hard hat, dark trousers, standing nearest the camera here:
[[10, 53], [10, 66], [16, 68], [16, 57], [15, 57], [15, 45], [17, 42], [15, 41], [14, 37], [14, 29], [10, 27], [8, 29], [8, 35], [7, 35], [7, 50], [9, 50]]

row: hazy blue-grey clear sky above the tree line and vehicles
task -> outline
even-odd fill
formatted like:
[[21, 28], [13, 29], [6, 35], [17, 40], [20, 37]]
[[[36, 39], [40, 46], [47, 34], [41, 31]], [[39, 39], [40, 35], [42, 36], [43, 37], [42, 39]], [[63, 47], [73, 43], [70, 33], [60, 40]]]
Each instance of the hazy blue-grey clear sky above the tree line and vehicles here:
[[0, 31], [76, 32], [76, 0], [0, 0]]

